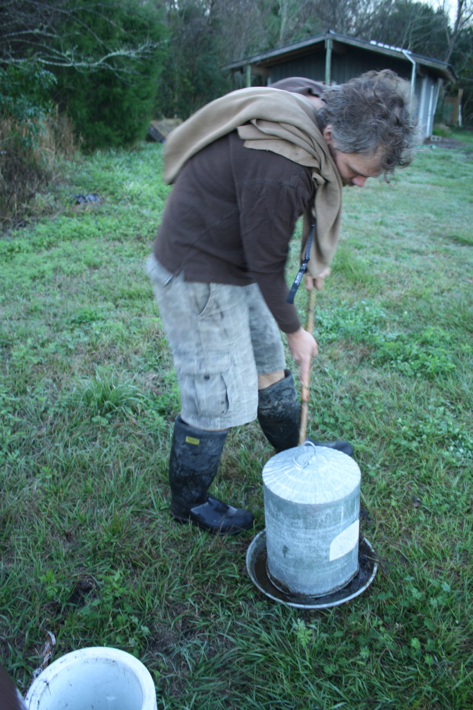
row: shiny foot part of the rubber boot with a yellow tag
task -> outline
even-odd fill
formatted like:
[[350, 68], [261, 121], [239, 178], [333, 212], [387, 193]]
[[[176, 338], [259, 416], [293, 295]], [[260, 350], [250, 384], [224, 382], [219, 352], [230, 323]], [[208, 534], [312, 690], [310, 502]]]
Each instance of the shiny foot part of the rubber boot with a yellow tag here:
[[175, 515], [171, 507], [171, 513], [175, 520], [180, 523], [194, 523], [202, 530], [214, 532], [217, 535], [231, 535], [234, 532], [249, 530], [253, 527], [254, 518], [249, 510], [244, 508], [233, 508], [227, 503], [219, 501], [214, 496], [209, 496], [205, 503], [194, 506], [188, 515]]

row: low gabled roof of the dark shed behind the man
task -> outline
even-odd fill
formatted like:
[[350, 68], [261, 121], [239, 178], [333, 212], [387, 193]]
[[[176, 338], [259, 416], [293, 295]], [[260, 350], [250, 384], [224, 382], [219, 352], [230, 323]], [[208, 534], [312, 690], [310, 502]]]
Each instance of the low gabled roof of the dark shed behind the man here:
[[237, 62], [231, 62], [230, 64], [225, 65], [224, 68], [229, 70], [238, 70], [246, 67], [247, 65], [271, 67], [281, 61], [294, 59], [298, 56], [307, 55], [312, 52], [322, 51], [325, 49], [325, 45], [329, 39], [332, 40], [333, 48], [335, 50], [337, 49], [337, 45], [340, 47], [342, 47], [342, 45], [349, 45], [357, 47], [361, 50], [366, 50], [367, 52], [386, 55], [401, 61], [411, 62], [411, 60], [413, 60], [418, 66], [428, 68], [429, 73], [439, 79], [446, 79], [452, 82], [456, 79], [455, 71], [453, 70], [452, 65], [448, 64], [448, 62], [442, 62], [441, 60], [434, 59], [432, 57], [424, 57], [423, 55], [415, 54], [410, 50], [381, 44], [379, 42], [375, 42], [374, 40], [360, 40], [356, 37], [348, 37], [347, 35], [341, 35], [332, 30], [327, 30], [327, 32], [324, 32], [323, 34], [315, 35], [314, 37], [301, 40], [300, 42], [295, 42], [284, 47], [269, 50], [268, 52], [253, 55], [252, 57], [240, 59]]

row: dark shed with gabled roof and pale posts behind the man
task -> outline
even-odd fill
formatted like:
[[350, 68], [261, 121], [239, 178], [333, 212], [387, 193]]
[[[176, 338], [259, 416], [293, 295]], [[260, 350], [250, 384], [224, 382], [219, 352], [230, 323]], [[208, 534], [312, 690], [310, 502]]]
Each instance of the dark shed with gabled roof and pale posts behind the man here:
[[230, 70], [238, 86], [271, 86], [286, 77], [308, 77], [325, 84], [343, 84], [369, 70], [391, 69], [411, 82], [423, 138], [433, 129], [440, 86], [455, 81], [450, 64], [414, 54], [400, 47], [340, 35], [332, 30], [232, 62]]

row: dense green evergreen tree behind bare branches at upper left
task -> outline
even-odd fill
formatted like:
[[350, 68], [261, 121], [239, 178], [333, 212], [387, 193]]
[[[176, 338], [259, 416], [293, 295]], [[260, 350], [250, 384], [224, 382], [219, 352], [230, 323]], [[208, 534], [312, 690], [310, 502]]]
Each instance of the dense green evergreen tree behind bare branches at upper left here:
[[161, 11], [149, 0], [102, 0], [99, 12], [74, 7], [67, 27], [58, 28], [77, 58], [87, 58], [85, 65], [77, 59], [56, 70], [58, 102], [85, 148], [118, 148], [146, 137], [164, 33]]

